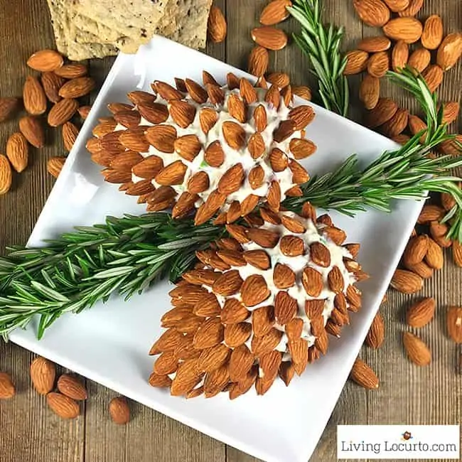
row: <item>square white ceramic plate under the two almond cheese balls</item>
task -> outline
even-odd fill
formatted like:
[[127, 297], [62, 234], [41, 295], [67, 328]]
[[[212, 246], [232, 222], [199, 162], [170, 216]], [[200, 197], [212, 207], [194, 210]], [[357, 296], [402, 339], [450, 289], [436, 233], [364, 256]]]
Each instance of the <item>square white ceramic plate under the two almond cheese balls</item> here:
[[[102, 222], [105, 215], [144, 213], [144, 206], [137, 205], [135, 198], [104, 183], [85, 142], [97, 118], [108, 114], [107, 103], [125, 101], [127, 92], [135, 88], [149, 89], [153, 80], [173, 82], [177, 76], [201, 81], [203, 69], [221, 82], [230, 71], [245, 75], [158, 37], [137, 55], [119, 55], [28, 245], [41, 245], [41, 240], [69, 231], [74, 225]], [[306, 162], [311, 173], [333, 169], [353, 153], [367, 164], [383, 150], [396, 147], [392, 141], [321, 107], [315, 110], [316, 119], [307, 129], [308, 138], [318, 145], [316, 155]], [[306, 462], [358, 355], [420, 208], [421, 203], [400, 201], [394, 204], [391, 215], [370, 211], [352, 220], [333, 214], [335, 224], [348, 232], [348, 242], [361, 243], [360, 262], [372, 276], [362, 284], [364, 308], [351, 316], [351, 325], [344, 329], [340, 340], [331, 340], [326, 357], [310, 365], [289, 388], [281, 381], [275, 382], [264, 397], [257, 397], [252, 390], [235, 401], [230, 401], [227, 394], [187, 401], [148, 385], [153, 365], [148, 351], [161, 333], [161, 315], [169, 308], [168, 282], [129, 302], [113, 298], [78, 316], [65, 315], [41, 341], [36, 340], [33, 323], [26, 331], [14, 332], [11, 340], [265, 461]]]

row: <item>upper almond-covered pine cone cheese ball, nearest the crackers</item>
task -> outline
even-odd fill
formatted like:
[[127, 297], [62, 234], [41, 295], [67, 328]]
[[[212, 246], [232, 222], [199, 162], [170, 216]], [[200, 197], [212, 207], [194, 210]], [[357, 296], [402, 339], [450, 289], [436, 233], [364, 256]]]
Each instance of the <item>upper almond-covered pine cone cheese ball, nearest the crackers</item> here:
[[204, 75], [204, 86], [156, 81], [154, 94], [134, 91], [132, 104], [109, 104], [112, 117], [87, 142], [93, 161], [148, 211], [195, 213], [196, 224], [217, 214], [233, 222], [263, 201], [279, 210], [309, 179], [299, 161], [316, 151], [304, 138], [312, 107], [292, 108], [290, 87], [267, 90], [232, 74], [220, 87]]

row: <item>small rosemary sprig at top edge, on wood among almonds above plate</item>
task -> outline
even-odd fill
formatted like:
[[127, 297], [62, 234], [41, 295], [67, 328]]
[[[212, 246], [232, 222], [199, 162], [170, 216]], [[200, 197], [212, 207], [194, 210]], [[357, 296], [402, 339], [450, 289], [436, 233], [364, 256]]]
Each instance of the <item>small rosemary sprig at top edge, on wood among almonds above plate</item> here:
[[287, 9], [301, 25], [301, 32], [293, 34], [294, 41], [311, 60], [321, 102], [326, 109], [346, 117], [349, 107], [348, 81], [343, 75], [346, 59], [340, 54], [343, 27], [323, 24], [321, 0], [293, 0], [292, 4]]

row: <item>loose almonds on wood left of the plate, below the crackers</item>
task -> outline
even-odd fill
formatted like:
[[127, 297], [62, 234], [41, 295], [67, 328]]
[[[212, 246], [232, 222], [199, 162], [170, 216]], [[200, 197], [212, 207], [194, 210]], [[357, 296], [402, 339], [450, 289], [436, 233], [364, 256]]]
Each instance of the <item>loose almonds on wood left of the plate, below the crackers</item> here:
[[[18, 131], [6, 141], [6, 156], [0, 154], [0, 194], [10, 190], [13, 171], [21, 173], [27, 167], [31, 146], [41, 149], [45, 145], [45, 114], [50, 127], [62, 127], [66, 151], [72, 149], [79, 129], [71, 119], [77, 112], [85, 119], [90, 112], [90, 106], [80, 104], [78, 99], [95, 88], [84, 64], [65, 64], [63, 56], [55, 50], [33, 53], [27, 64], [41, 75], [40, 78], [28, 75], [24, 82], [22, 106], [27, 114], [18, 120]], [[20, 103], [17, 97], [0, 98], [0, 122], [18, 112]], [[48, 159], [48, 172], [58, 176], [64, 162], [65, 156]]]

